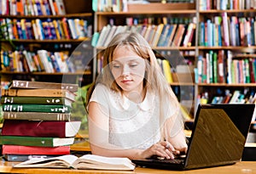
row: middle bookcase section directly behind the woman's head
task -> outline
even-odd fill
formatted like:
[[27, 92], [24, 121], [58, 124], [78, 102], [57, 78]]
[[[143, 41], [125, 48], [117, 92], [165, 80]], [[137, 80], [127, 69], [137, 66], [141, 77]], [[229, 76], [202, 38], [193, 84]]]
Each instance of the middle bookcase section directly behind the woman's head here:
[[[183, 33], [180, 34], [180, 36], [177, 36], [177, 38], [183, 38], [186, 36], [189, 24], [195, 25], [196, 23], [195, 1], [192, 1], [192, 3], [166, 4], [160, 3], [160, 1], [152, 2], [153, 3], [148, 4], [128, 4], [125, 7], [127, 8], [127, 11], [123, 11], [122, 8], [116, 12], [97, 9], [94, 15], [94, 36], [96, 38], [92, 39], [95, 39], [96, 41], [92, 43], [95, 47], [95, 55], [97, 56], [97, 59], [94, 63], [94, 73], [96, 75], [100, 73], [102, 69], [101, 55], [108, 43], [101, 40], [101, 35], [105, 35], [108, 41], [112, 37], [109, 36], [111, 30], [113, 30], [114, 33], [118, 32], [119, 30], [141, 32], [144, 38], [148, 40], [149, 44], [154, 49], [154, 53], [156, 54], [157, 58], [161, 60], [168, 59], [174, 69], [176, 69], [178, 65], [189, 64], [191, 67], [195, 66], [196, 32], [191, 34], [189, 46], [183, 46], [183, 40], [181, 40], [178, 44], [172, 45], [171, 47], [170, 44], [172, 44], [172, 42], [169, 42], [166, 39], [167, 37], [160, 38], [159, 36], [159, 38], [157, 38], [157, 35], [163, 30], [166, 30], [166, 34], [169, 30], [171, 34], [171, 27], [174, 28], [174, 25], [177, 27], [178, 24], [183, 24], [183, 28], [180, 29], [181, 31], [183, 30]], [[167, 25], [169, 28], [167, 28]], [[121, 27], [122, 29], [120, 29]], [[151, 34], [147, 34], [147, 31]], [[172, 32], [174, 38], [177, 33], [174, 30]], [[160, 44], [160, 42], [162, 43]], [[182, 70], [184, 68], [179, 66], [177, 69]], [[174, 71], [172, 73], [172, 81], [170, 81], [170, 84], [173, 88], [173, 91], [177, 93], [181, 103], [190, 105], [193, 103], [193, 90], [195, 83], [194, 75], [193, 73], [190, 74], [190, 70], [187, 70], [187, 72]], [[184, 96], [183, 93], [190, 93], [191, 95]], [[194, 111], [191, 110], [190, 114], [193, 115], [193, 112]]]

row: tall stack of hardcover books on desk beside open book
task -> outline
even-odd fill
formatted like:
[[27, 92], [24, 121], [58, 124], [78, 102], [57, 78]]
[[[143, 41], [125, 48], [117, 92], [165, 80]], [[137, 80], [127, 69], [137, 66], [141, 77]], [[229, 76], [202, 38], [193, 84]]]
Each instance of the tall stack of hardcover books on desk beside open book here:
[[2, 89], [3, 128], [0, 144], [7, 160], [70, 154], [81, 121], [71, 120], [78, 85], [12, 81]]

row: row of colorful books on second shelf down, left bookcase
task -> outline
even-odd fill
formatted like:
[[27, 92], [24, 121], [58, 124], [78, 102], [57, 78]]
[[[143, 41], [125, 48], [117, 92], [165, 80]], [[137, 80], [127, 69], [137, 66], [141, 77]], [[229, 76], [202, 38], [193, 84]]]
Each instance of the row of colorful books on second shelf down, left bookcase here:
[[61, 20], [28, 20], [28, 19], [0, 19], [3, 27], [4, 39], [84, 39], [91, 35], [91, 25], [83, 19]]

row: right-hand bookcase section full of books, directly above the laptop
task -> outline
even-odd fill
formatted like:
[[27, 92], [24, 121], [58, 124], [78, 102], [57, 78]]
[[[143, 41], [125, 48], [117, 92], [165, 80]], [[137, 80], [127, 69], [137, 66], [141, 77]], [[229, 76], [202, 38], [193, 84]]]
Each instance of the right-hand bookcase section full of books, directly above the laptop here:
[[[237, 91], [240, 95], [236, 97], [235, 103], [255, 103], [253, 64], [256, 60], [256, 6], [251, 1], [222, 4], [217, 0], [207, 3], [198, 0], [197, 11], [199, 30], [196, 64], [203, 58], [203, 65], [207, 65], [205, 62], [211, 62], [214, 56], [217, 56], [217, 63], [213, 61], [210, 68], [207, 67], [212, 70], [213, 76], [211, 72], [203, 72], [202, 62], [198, 64], [197, 68], [201, 69], [202, 74], [199, 73], [195, 83], [195, 104], [224, 103], [227, 96], [235, 98]], [[202, 27], [205, 29], [204, 34]], [[208, 32], [212, 32], [212, 36], [207, 35]], [[212, 80], [214, 76], [215, 80]]]

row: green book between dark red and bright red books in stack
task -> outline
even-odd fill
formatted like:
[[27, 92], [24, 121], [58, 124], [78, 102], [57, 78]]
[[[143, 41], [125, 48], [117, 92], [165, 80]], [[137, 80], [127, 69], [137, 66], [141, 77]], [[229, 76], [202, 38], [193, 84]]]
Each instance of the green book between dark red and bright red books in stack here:
[[20, 146], [57, 147], [71, 145], [74, 138], [38, 138], [24, 136], [0, 136], [0, 144]]

